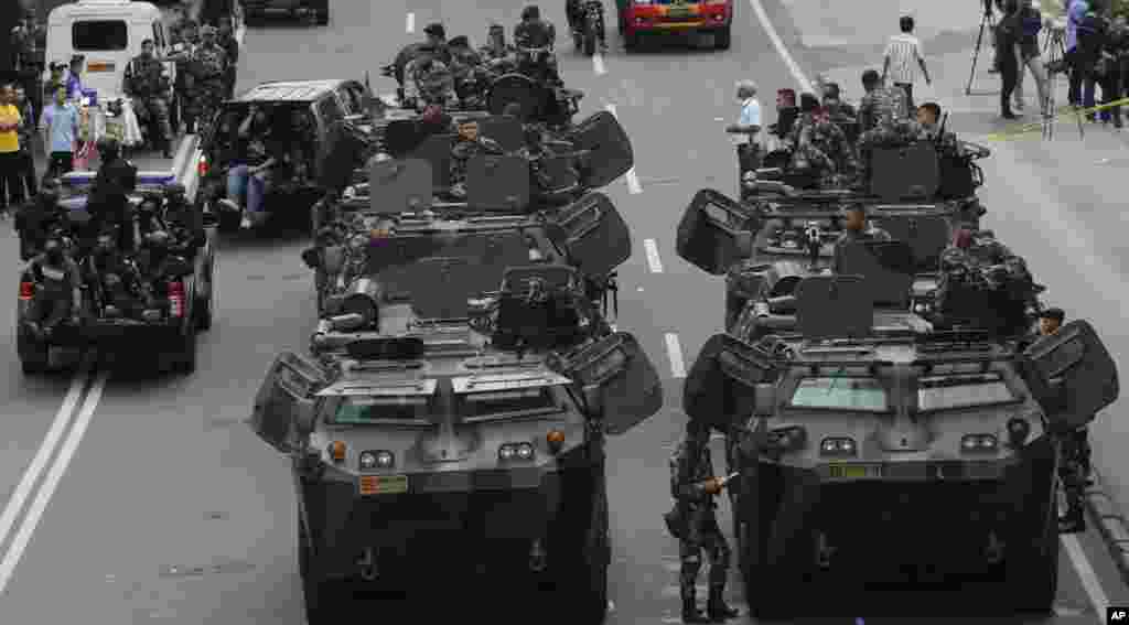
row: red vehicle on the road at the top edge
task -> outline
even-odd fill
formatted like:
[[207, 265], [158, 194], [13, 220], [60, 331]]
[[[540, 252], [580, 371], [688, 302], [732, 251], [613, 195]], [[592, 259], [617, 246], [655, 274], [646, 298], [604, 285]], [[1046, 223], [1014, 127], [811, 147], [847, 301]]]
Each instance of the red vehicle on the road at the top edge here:
[[633, 49], [645, 33], [708, 33], [718, 50], [729, 49], [733, 0], [615, 0], [620, 34]]

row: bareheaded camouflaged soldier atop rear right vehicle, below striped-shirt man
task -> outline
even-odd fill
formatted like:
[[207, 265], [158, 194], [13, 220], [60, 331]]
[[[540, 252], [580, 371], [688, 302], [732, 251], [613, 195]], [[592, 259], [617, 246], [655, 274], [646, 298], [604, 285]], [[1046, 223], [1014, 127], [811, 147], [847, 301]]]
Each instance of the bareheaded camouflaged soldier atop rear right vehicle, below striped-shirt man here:
[[874, 148], [899, 148], [924, 140], [926, 134], [916, 120], [909, 120], [904, 89], [885, 86], [875, 70], [863, 73], [863, 87], [866, 95], [858, 105], [859, 179], [867, 184]]

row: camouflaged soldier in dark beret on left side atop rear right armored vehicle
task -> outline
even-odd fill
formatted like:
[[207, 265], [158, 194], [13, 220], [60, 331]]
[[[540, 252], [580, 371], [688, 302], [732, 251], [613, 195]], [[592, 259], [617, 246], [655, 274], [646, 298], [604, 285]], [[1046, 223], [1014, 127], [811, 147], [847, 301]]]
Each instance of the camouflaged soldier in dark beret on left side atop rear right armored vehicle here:
[[847, 135], [820, 111], [812, 94], [800, 96], [800, 117], [791, 132], [791, 168], [811, 171], [821, 183], [849, 177], [857, 164]]

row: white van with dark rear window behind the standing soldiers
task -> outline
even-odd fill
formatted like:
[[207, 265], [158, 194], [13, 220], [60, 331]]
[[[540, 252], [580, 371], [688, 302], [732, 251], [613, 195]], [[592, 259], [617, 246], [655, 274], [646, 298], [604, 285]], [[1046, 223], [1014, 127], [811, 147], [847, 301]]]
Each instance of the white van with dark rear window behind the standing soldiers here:
[[[168, 52], [169, 34], [161, 10], [150, 2], [132, 0], [77, 0], [62, 5], [47, 17], [46, 64], [70, 63], [86, 56], [82, 86], [97, 91], [99, 102], [121, 96], [125, 67], [141, 53], [141, 42], [152, 39], [156, 54]], [[169, 80], [176, 64], [165, 63]], [[44, 73], [44, 80], [50, 71]]]

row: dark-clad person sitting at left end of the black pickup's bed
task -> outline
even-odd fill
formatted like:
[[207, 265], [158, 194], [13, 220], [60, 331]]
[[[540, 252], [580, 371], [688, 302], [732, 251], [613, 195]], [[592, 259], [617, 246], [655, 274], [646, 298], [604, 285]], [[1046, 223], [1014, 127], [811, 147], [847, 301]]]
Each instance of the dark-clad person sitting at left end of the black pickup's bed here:
[[82, 310], [82, 276], [63, 246], [62, 237], [50, 237], [28, 266], [36, 287], [25, 319], [40, 336], [50, 336], [67, 319], [77, 325]]

